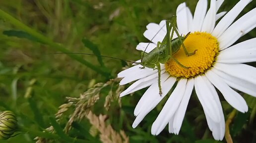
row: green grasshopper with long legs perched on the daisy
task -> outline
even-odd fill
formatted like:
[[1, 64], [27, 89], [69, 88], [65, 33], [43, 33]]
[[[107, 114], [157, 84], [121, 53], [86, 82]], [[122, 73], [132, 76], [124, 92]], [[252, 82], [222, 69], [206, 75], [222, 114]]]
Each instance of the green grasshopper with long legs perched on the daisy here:
[[[179, 32], [175, 26], [176, 23], [176, 16], [173, 16], [171, 20], [166, 20], [166, 36], [162, 40], [162, 42], [158, 41], [156, 48], [154, 48], [149, 53], [145, 53], [145, 51], [142, 53], [141, 67], [140, 69], [144, 69], [145, 67], [153, 69], [158, 71], [158, 87], [159, 87], [159, 94], [162, 95], [162, 88], [161, 88], [161, 69], [160, 69], [160, 63], [165, 64], [168, 60], [173, 59], [178, 65], [180, 65], [182, 68], [189, 69], [190, 67], [186, 67], [182, 65], [177, 59], [173, 57], [173, 55], [179, 51], [181, 46], [184, 48], [184, 51], [187, 56], [194, 55], [196, 50], [193, 53], [189, 53], [184, 45], [184, 40], [190, 35], [188, 33], [186, 36], [180, 36]], [[161, 30], [161, 29], [160, 29]], [[160, 31], [159, 30], [159, 31]], [[171, 31], [172, 30], [172, 31]], [[158, 31], [158, 32], [159, 32]], [[174, 32], [177, 34], [177, 38], [173, 38]], [[147, 48], [147, 47], [146, 47]]]

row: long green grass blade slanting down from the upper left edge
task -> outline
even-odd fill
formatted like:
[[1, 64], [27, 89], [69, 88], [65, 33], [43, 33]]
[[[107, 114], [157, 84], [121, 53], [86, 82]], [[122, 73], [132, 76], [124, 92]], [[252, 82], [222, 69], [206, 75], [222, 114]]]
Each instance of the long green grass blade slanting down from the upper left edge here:
[[[13, 24], [14, 26], [16, 26], [17, 28], [27, 32], [28, 34], [30, 34], [31, 36], [34, 36], [35, 38], [37, 38], [38, 40], [40, 40], [41, 42], [48, 44], [49, 46], [51, 46], [52, 48], [54, 48], [57, 51], [61, 51], [64, 53], [68, 53], [71, 52], [68, 49], [66, 49], [62, 44], [60, 43], [56, 43], [53, 40], [51, 40], [50, 38], [38, 33], [37, 31], [31, 29], [30, 27], [26, 26], [25, 24], [21, 23], [19, 20], [15, 19], [14, 17], [12, 17], [11, 15], [9, 15], [8, 13], [4, 12], [3, 10], [0, 9], [0, 17], [2, 17], [4, 20], [8, 20], [11, 24]], [[105, 72], [103, 69], [96, 67], [94, 65], [92, 65], [91, 63], [85, 61], [82, 57], [77, 56], [75, 54], [67, 54], [70, 58], [82, 63], [83, 65], [87, 66], [88, 68], [108, 77], [110, 75], [109, 72]]]

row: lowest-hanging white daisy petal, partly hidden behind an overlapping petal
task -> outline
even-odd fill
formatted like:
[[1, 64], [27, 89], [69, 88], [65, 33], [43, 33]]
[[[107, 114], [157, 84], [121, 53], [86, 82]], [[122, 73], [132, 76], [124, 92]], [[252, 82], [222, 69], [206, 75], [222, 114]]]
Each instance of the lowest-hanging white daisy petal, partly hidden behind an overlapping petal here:
[[221, 103], [219, 100], [219, 96], [218, 96], [218, 93], [216, 92], [214, 86], [209, 82], [209, 80], [205, 79], [206, 78], [205, 76], [202, 76], [202, 78], [204, 78], [206, 85], [210, 89], [210, 91], [213, 95], [213, 98], [218, 105], [218, 110], [220, 113], [220, 122], [214, 122], [209, 117], [207, 117], [206, 120], [209, 120], [209, 121], [207, 121], [207, 123], [210, 122], [212, 124], [211, 131], [212, 131], [212, 135], [213, 135], [214, 139], [222, 140], [225, 135], [225, 119], [224, 119], [224, 114], [222, 111]]

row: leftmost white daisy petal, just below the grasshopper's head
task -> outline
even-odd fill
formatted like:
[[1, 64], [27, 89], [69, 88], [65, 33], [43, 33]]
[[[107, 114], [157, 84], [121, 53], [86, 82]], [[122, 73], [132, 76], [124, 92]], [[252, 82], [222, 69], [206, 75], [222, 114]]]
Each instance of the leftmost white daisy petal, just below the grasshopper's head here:
[[[120, 81], [119, 84], [124, 85], [131, 81], [152, 75], [157, 72], [157, 70], [153, 70], [153, 69], [149, 69], [149, 68], [139, 69], [140, 67], [142, 67], [142, 66], [136, 65], [136, 66], [126, 69], [122, 72], [119, 72], [118, 77], [124, 77]], [[164, 69], [164, 65], [161, 65], [161, 70], [163, 70], [163, 69]]]

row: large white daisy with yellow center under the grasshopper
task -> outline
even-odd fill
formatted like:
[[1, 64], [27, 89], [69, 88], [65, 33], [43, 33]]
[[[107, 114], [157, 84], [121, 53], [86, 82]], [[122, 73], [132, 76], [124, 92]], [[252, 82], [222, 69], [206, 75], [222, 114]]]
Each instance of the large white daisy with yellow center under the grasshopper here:
[[[186, 3], [178, 6], [178, 31], [182, 35], [191, 32], [184, 44], [189, 52], [197, 51], [188, 57], [180, 48], [174, 54], [182, 65], [190, 67], [188, 69], [173, 59], [161, 65], [162, 96], [159, 95], [157, 70], [140, 69], [142, 66], [136, 65], [118, 74], [123, 78], [121, 85], [136, 80], [121, 97], [149, 86], [134, 109], [133, 128], [165, 98], [176, 81], [177, 86], [151, 127], [152, 135], [158, 135], [167, 124], [170, 133], [179, 134], [193, 88], [215, 140], [222, 140], [225, 133], [224, 114], [215, 87], [232, 107], [248, 111], [244, 98], [232, 88], [256, 96], [256, 68], [242, 64], [256, 61], [256, 38], [233, 44], [256, 27], [256, 8], [235, 21], [252, 0], [240, 0], [229, 12], [217, 13], [223, 1], [211, 0], [207, 10], [207, 0], [199, 0], [193, 16]], [[215, 24], [219, 18], [221, 20]], [[148, 24], [144, 36], [152, 43], [139, 43], [136, 49], [144, 51], [147, 45], [145, 52], [154, 49], [166, 35], [164, 25], [165, 21]]]

